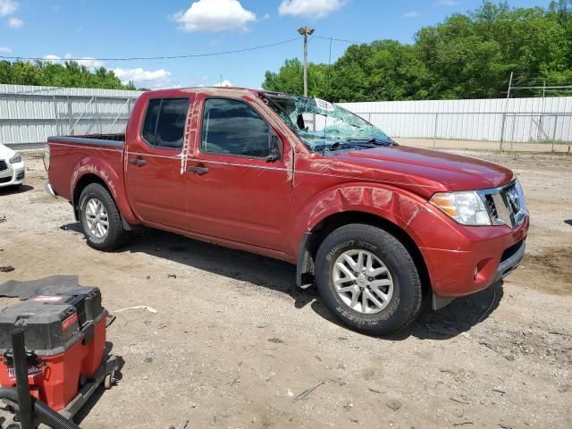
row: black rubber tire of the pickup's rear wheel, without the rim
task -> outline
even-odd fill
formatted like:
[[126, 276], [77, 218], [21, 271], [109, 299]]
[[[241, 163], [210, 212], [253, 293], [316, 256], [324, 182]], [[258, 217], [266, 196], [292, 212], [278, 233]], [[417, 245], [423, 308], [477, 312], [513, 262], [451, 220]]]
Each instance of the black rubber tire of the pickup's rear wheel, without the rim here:
[[[86, 217], [86, 206], [88, 201], [96, 198], [105, 207], [107, 213], [107, 221], [109, 223], [107, 232], [104, 237], [96, 237], [88, 228]], [[91, 183], [81, 191], [80, 195], [80, 222], [83, 233], [86, 236], [88, 245], [104, 252], [114, 250], [121, 247], [127, 240], [128, 233], [123, 229], [122, 216], [119, 214], [117, 206], [115, 206], [114, 198], [109, 195], [107, 189], [98, 183]]]

